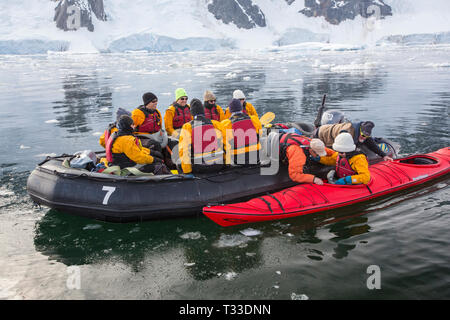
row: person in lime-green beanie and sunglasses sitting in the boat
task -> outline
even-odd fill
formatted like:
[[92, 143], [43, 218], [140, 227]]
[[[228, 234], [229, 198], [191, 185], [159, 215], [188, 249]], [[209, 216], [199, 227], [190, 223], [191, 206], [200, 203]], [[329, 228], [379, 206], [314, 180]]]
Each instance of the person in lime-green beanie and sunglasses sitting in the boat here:
[[192, 120], [190, 106], [187, 104], [187, 93], [183, 88], [175, 90], [175, 102], [164, 114], [164, 126], [169, 136], [178, 138], [183, 124]]

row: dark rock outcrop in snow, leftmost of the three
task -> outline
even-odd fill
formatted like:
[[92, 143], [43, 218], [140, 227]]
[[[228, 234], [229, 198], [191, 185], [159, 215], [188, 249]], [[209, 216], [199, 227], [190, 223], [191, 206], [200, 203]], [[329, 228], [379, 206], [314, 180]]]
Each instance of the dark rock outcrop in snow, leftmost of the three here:
[[64, 31], [87, 28], [94, 31], [92, 14], [97, 19], [106, 21], [103, 0], [59, 0], [53, 20]]

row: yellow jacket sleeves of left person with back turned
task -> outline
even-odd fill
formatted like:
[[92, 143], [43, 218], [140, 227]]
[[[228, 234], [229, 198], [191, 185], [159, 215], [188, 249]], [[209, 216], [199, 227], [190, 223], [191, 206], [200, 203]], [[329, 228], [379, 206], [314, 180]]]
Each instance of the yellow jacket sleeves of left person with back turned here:
[[[225, 130], [222, 127], [221, 123], [215, 120], [211, 120], [217, 139], [219, 140], [219, 144], [223, 143], [224, 148], [224, 160], [226, 164], [229, 164], [230, 161], [230, 145], [225, 137]], [[190, 122], [187, 122], [181, 128], [180, 139], [178, 142], [178, 154], [181, 159], [181, 168], [184, 173], [192, 172], [192, 163], [191, 163], [191, 145], [192, 145], [192, 125]]]

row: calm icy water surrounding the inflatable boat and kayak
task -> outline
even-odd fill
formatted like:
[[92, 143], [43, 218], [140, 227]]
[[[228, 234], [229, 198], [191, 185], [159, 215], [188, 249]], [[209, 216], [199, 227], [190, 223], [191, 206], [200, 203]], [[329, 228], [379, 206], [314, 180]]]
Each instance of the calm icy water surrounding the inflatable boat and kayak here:
[[[401, 153], [450, 145], [450, 48], [0, 56], [0, 298], [449, 299], [450, 180], [325, 214], [222, 228], [201, 216], [117, 225], [33, 207], [46, 155], [100, 150], [119, 107], [153, 91], [241, 89], [259, 114], [372, 120]], [[367, 287], [369, 266], [380, 289]], [[71, 282], [79, 275], [79, 282]], [[74, 285], [74, 283], [76, 285]]]

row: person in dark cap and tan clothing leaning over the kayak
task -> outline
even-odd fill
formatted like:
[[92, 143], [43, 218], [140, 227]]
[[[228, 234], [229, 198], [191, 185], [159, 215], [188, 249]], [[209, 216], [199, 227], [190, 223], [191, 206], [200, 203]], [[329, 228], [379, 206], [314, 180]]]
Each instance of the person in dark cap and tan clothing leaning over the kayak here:
[[372, 121], [363, 122], [344, 122], [336, 124], [322, 125], [314, 131], [313, 137], [322, 140], [327, 147], [331, 147], [335, 138], [342, 132], [350, 133], [357, 148], [365, 145], [369, 150], [379, 155], [385, 161], [391, 161], [385, 152], [383, 152], [375, 143], [372, 135], [372, 129], [375, 124]]

